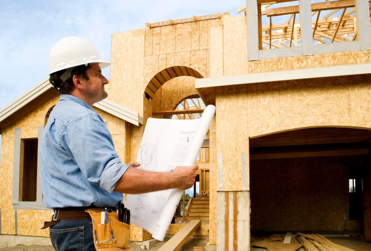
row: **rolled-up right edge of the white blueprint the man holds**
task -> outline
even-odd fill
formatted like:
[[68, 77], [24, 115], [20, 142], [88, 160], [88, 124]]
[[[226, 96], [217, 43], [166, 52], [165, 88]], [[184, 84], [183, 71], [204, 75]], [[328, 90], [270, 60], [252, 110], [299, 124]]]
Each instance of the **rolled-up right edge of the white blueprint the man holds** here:
[[[215, 114], [215, 106], [208, 105], [204, 112], [202, 113], [200, 123], [198, 124], [197, 130], [194, 133], [193, 140], [191, 142], [191, 146], [189, 147], [188, 153], [184, 159], [182, 166], [192, 166], [197, 159], [198, 153], [200, 153], [201, 146], [204, 142], [206, 137], [207, 131], [209, 130], [211, 121], [213, 120]], [[157, 234], [152, 234], [152, 237], [163, 241], [167, 232], [167, 229], [170, 226], [171, 219], [173, 219], [173, 215], [181, 197], [183, 196], [183, 190], [180, 189], [172, 189], [170, 196], [167, 201], [167, 205], [165, 206], [164, 210], [161, 213], [159, 222], [159, 229]], [[184, 213], [184, 212], [183, 212]]]

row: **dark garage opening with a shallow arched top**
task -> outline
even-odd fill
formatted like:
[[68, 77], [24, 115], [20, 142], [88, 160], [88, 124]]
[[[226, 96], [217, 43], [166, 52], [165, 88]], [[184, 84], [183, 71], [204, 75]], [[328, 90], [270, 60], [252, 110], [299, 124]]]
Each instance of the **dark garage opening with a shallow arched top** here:
[[364, 205], [370, 139], [369, 130], [345, 127], [250, 138], [252, 242], [259, 238], [254, 231], [363, 234], [370, 228], [363, 221], [370, 214]]

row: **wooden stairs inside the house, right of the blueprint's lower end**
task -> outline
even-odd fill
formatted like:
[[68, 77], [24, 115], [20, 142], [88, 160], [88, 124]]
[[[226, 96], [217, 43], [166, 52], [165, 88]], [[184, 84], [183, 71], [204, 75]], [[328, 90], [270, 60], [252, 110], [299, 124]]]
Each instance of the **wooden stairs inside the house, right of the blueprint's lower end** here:
[[185, 219], [190, 221], [198, 219], [201, 221], [209, 221], [210, 215], [210, 197], [191, 198], [185, 210]]

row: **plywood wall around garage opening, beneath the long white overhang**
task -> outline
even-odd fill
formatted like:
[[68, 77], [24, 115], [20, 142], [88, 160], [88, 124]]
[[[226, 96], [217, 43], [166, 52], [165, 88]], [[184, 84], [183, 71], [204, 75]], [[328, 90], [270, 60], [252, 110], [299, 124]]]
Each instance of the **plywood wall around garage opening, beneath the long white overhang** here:
[[370, 81], [358, 75], [218, 87], [223, 190], [242, 190], [240, 156], [249, 151], [248, 137], [315, 126], [370, 128]]

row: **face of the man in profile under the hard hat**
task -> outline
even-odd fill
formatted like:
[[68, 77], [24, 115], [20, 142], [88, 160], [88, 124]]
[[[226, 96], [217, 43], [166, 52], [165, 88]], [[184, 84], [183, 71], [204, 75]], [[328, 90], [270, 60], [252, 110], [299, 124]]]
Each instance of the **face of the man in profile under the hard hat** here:
[[98, 63], [89, 65], [86, 70], [89, 80], [81, 79], [83, 85], [83, 95], [89, 105], [104, 100], [108, 97], [104, 90], [104, 85], [108, 84], [108, 80], [102, 75], [101, 67]]

